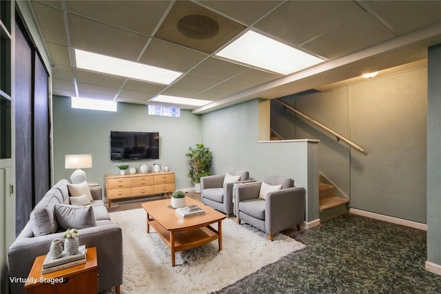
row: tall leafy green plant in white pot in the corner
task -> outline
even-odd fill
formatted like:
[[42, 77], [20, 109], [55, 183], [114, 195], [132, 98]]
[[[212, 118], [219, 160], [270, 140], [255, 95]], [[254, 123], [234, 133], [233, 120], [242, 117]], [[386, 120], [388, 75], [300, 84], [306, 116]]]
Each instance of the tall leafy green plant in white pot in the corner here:
[[213, 154], [203, 144], [196, 144], [196, 148], [189, 147], [188, 153], [189, 171], [188, 176], [194, 183], [196, 193], [201, 193], [201, 177], [209, 176], [212, 167]]

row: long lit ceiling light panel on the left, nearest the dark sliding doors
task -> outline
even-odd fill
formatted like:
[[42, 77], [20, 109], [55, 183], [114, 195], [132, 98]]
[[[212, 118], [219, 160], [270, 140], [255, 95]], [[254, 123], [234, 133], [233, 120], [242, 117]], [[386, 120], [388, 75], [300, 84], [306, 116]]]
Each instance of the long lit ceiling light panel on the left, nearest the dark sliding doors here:
[[76, 67], [135, 80], [170, 85], [182, 72], [75, 49]]

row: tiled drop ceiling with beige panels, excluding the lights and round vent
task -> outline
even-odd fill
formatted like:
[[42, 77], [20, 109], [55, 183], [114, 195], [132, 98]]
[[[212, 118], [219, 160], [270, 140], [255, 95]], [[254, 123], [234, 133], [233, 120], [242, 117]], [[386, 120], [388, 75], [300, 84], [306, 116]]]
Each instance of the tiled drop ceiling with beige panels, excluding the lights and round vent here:
[[[30, 1], [30, 8], [52, 61], [52, 94], [141, 105], [158, 94], [209, 101], [177, 105], [196, 114], [419, 65], [427, 47], [441, 43], [441, 1], [63, 0]], [[192, 14], [214, 19], [218, 32], [185, 36], [178, 21]], [[215, 56], [248, 30], [325, 62], [284, 76]], [[184, 74], [159, 85], [88, 72], [76, 68], [74, 48]]]

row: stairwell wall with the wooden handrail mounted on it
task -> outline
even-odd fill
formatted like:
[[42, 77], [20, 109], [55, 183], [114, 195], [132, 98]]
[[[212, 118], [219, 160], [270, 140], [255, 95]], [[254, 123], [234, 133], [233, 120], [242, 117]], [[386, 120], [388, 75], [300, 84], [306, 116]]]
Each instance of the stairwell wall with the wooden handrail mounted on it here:
[[349, 196], [350, 207], [427, 221], [427, 67], [288, 98], [285, 103], [365, 149], [365, 154], [350, 149], [271, 104], [276, 132], [285, 138], [320, 140], [319, 169]]

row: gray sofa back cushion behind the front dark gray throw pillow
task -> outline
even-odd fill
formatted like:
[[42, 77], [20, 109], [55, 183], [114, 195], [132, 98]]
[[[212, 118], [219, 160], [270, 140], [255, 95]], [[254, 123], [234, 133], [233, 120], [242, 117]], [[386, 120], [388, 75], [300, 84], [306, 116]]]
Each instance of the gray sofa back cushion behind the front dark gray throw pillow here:
[[58, 190], [50, 189], [31, 211], [29, 221], [34, 236], [48, 235], [57, 231], [59, 224], [54, 216], [54, 205], [59, 204], [57, 193]]

